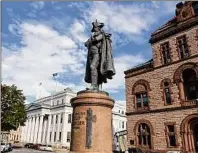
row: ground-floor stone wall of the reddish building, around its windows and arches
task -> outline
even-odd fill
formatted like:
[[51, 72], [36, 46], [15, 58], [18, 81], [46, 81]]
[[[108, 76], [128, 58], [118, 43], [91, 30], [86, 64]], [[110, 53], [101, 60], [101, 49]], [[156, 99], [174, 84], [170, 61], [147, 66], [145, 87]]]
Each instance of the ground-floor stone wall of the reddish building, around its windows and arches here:
[[[166, 122], [176, 122], [176, 134], [178, 140], [178, 147], [172, 148], [173, 150], [181, 150], [182, 138], [180, 134], [180, 128], [182, 121], [191, 114], [198, 113], [198, 108], [191, 108], [185, 110], [177, 110], [172, 112], [159, 112], [159, 113], [146, 113], [138, 115], [127, 116], [127, 130], [128, 130], [128, 142], [130, 140], [135, 140], [134, 135], [135, 125], [138, 121], [147, 120], [151, 123], [153, 127], [153, 149], [154, 150], [171, 150], [167, 147], [166, 136], [165, 136], [165, 124]], [[131, 147], [131, 145], [129, 146]]]

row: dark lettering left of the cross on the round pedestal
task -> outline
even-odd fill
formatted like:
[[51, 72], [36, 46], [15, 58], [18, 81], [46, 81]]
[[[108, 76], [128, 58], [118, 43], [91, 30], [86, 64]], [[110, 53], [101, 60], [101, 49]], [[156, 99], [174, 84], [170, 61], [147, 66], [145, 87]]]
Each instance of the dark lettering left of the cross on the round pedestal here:
[[74, 118], [73, 118], [73, 129], [77, 130], [80, 129], [81, 126], [85, 125], [85, 121], [84, 121], [84, 116], [85, 116], [85, 112], [76, 112], [74, 114]]

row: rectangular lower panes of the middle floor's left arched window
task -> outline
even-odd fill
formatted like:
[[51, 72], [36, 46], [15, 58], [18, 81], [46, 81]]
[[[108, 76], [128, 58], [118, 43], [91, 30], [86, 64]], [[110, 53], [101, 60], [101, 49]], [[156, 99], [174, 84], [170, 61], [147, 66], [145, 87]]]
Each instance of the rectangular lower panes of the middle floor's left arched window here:
[[138, 107], [148, 107], [147, 93], [136, 94], [136, 105]]

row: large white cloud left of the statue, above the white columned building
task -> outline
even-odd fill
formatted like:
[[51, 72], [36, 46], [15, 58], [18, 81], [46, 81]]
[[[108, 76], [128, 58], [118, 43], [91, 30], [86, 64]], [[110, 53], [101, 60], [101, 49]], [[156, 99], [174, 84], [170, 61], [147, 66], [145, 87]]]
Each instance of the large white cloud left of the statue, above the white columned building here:
[[[13, 47], [3, 47], [3, 52], [10, 52], [3, 57], [3, 83], [16, 84], [26, 96], [40, 94], [38, 84], [43, 82], [42, 96], [47, 96], [55, 89], [52, 79], [54, 72], [81, 72], [84, 52], [77, 50], [76, 43], [57, 31], [42, 24], [23, 23], [18, 29], [22, 34], [23, 46], [13, 52]], [[57, 91], [66, 86], [57, 83]]]

